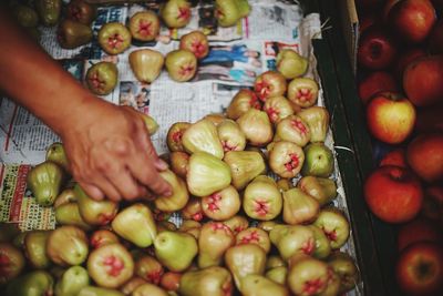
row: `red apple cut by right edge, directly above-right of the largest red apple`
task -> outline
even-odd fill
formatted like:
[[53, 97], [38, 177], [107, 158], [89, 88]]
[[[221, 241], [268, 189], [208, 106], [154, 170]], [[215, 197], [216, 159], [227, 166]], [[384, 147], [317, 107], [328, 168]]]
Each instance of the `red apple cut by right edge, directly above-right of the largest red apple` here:
[[443, 181], [443, 133], [415, 136], [408, 144], [406, 160], [415, 174], [425, 182]]

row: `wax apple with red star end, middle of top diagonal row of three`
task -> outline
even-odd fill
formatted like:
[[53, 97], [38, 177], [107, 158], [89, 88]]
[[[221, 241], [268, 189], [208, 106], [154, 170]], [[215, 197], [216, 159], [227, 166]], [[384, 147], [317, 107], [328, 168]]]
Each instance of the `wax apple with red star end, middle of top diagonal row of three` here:
[[136, 40], [155, 40], [159, 32], [159, 19], [154, 11], [138, 11], [130, 19], [130, 31]]

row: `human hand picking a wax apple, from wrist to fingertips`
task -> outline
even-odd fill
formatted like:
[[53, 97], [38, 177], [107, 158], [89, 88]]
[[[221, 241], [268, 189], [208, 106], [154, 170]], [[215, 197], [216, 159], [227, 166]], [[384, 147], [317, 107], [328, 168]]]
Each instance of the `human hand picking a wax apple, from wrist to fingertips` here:
[[141, 113], [100, 99], [74, 113], [60, 134], [70, 171], [92, 198], [172, 194], [158, 174], [167, 164], [156, 154]]

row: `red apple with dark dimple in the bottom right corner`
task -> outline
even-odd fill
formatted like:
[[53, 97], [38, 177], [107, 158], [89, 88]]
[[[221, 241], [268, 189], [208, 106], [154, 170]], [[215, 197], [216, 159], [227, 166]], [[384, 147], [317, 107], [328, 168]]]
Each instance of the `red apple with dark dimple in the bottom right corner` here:
[[400, 254], [395, 275], [408, 295], [442, 295], [443, 246], [429, 242], [410, 245]]

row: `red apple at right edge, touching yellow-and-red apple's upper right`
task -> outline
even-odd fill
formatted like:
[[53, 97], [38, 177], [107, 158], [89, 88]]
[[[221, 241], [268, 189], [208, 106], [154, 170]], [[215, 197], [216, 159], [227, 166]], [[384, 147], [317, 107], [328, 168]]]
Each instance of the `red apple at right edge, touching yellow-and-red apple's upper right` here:
[[430, 55], [410, 63], [403, 72], [403, 89], [416, 106], [443, 102], [443, 55]]

